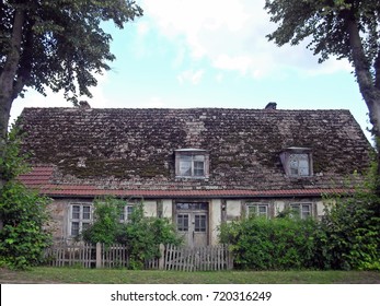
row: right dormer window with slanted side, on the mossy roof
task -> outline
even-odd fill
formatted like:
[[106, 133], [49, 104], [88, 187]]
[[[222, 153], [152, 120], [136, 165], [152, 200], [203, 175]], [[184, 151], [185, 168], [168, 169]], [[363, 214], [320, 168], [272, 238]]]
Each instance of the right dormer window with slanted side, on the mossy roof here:
[[280, 154], [280, 158], [287, 176], [312, 176], [311, 149], [291, 146]]

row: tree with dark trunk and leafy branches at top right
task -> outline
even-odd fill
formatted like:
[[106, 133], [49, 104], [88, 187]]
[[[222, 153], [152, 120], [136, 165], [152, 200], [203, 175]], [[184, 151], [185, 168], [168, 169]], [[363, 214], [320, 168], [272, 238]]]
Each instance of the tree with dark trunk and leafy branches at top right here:
[[[369, 110], [372, 133], [380, 137], [380, 2], [378, 0], [266, 0], [267, 35], [278, 46], [311, 38], [308, 48], [323, 62], [331, 56], [348, 59]], [[377, 142], [378, 152], [380, 143]], [[380, 162], [380, 154], [378, 154]], [[380, 174], [380, 163], [378, 173]], [[380, 184], [378, 186], [380, 193]]]

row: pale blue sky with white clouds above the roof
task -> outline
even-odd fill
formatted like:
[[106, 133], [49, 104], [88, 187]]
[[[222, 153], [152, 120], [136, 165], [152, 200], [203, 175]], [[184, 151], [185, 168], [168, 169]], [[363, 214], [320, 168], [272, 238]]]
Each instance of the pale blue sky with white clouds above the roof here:
[[[124, 30], [105, 24], [116, 60], [97, 75], [93, 108], [349, 109], [366, 131], [368, 110], [346, 60], [320, 64], [298, 46], [277, 47], [265, 0], [137, 0], [142, 17]], [[28, 90], [11, 110], [71, 107], [62, 94]], [[369, 133], [366, 133], [370, 138]]]

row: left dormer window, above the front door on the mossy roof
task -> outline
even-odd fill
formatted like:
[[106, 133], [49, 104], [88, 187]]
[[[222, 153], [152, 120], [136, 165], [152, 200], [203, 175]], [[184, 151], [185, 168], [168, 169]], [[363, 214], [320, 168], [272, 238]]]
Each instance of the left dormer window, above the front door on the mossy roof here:
[[175, 175], [177, 177], [208, 177], [208, 154], [200, 149], [175, 150]]

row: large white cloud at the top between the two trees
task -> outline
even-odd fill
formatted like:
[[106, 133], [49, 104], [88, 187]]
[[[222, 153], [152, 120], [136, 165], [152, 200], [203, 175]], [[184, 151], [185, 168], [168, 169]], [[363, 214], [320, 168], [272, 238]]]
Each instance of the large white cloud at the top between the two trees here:
[[220, 70], [263, 78], [281, 69], [309, 74], [349, 69], [335, 60], [318, 64], [318, 58], [306, 49], [306, 44], [279, 48], [269, 43], [265, 36], [276, 25], [269, 22], [264, 4], [265, 0], [143, 0], [141, 3], [146, 17], [161, 35], [182, 48], [186, 46], [193, 60], [207, 59]]

